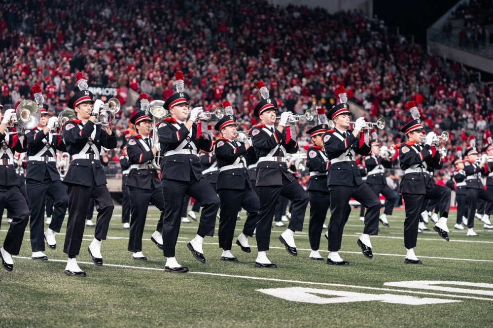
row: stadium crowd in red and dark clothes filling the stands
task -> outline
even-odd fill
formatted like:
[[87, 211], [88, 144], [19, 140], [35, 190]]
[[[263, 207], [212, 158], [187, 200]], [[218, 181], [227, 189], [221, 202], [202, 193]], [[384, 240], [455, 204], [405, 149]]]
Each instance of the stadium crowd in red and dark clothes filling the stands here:
[[[491, 136], [493, 86], [361, 13], [332, 15], [264, 0], [24, 0], [2, 2], [0, 13], [0, 102], [15, 107], [33, 98], [30, 87], [37, 84], [57, 115], [73, 94], [75, 73], [83, 71], [90, 86], [115, 88], [125, 104], [116, 122], [119, 145], [140, 108], [131, 95], [168, 98], [177, 70], [194, 106], [214, 110], [229, 100], [239, 130], [256, 123], [255, 83], [264, 80], [280, 110], [298, 114], [330, 108], [335, 89], [345, 86], [370, 121], [385, 118], [379, 133], [387, 146], [403, 137], [409, 100], [418, 104], [427, 131], [451, 133], [449, 157], [465, 148], [469, 135], [479, 146]], [[311, 124], [299, 125], [301, 145], [309, 142], [304, 131]], [[107, 156], [118, 159], [118, 150]]]

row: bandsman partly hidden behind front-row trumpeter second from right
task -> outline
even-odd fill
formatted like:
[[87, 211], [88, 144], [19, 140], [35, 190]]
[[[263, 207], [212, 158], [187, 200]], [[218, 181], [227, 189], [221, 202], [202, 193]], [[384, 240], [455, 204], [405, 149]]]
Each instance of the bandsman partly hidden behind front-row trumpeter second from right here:
[[[310, 179], [307, 184], [308, 196], [310, 197], [310, 224], [308, 226], [308, 238], [312, 252], [310, 259], [323, 261], [318, 252], [320, 248], [320, 235], [323, 223], [330, 207], [330, 194], [327, 187], [327, 170], [330, 162], [323, 149], [322, 135], [329, 129], [324, 108], [317, 108], [318, 124], [306, 131], [310, 135], [314, 146], [307, 151], [307, 167], [310, 171]], [[347, 210], [351, 212], [351, 205], [347, 204]]]

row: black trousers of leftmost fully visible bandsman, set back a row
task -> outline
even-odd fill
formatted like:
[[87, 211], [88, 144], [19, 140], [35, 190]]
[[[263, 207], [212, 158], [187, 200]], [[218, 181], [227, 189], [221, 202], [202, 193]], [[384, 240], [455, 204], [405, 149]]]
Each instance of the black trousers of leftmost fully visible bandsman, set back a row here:
[[26, 187], [29, 199], [29, 210], [31, 212], [31, 221], [29, 229], [31, 231], [31, 248], [33, 252], [44, 251], [44, 206], [46, 195], [54, 199], [55, 210], [50, 223], [50, 229], [60, 232], [67, 206], [69, 196], [62, 184], [62, 181], [51, 181], [48, 177], [44, 181], [27, 179]]

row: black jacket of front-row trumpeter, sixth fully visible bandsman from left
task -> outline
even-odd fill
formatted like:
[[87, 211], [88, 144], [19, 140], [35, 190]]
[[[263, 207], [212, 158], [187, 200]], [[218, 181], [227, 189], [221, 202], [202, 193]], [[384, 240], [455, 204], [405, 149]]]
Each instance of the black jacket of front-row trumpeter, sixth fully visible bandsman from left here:
[[[282, 132], [274, 129], [274, 132], [267, 132], [264, 124], [259, 124], [251, 130], [251, 141], [255, 148], [255, 154], [260, 160], [267, 156], [274, 148], [277, 150], [269, 156], [286, 157], [286, 153], [294, 154], [298, 151], [298, 143], [294, 139], [286, 142], [286, 127]], [[281, 149], [284, 148], [285, 152]], [[256, 186], [282, 186], [282, 177], [289, 181], [294, 181], [293, 174], [287, 169], [285, 162], [264, 161], [257, 163]]]

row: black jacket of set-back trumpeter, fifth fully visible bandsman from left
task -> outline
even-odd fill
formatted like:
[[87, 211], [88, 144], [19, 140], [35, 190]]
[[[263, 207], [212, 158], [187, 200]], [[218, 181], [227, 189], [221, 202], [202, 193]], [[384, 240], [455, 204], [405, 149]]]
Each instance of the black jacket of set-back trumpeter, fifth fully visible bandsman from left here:
[[217, 190], [245, 190], [246, 185], [251, 188], [246, 159], [252, 153], [255, 156], [254, 152], [253, 147], [246, 149], [245, 144], [240, 141], [231, 141], [226, 138], [216, 141], [215, 154], [219, 168], [234, 164], [238, 158], [240, 158], [238, 163], [243, 164], [243, 167], [231, 168], [220, 172], [217, 179]]

